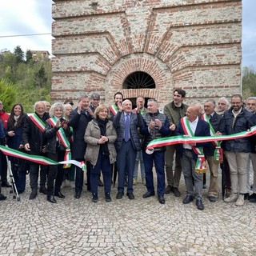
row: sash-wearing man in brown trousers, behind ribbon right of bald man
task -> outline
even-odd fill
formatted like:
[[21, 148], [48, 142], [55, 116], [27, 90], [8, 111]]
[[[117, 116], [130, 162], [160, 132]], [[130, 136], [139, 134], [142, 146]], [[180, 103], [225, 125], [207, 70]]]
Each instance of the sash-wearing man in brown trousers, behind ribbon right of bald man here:
[[[211, 135], [222, 135], [225, 133], [225, 120], [218, 115], [215, 110], [216, 103], [210, 99], [205, 102], [205, 114], [202, 114], [202, 119], [209, 123]], [[208, 190], [208, 198], [210, 202], [216, 202], [218, 198], [218, 167], [219, 162], [214, 161], [214, 150], [216, 146], [220, 146], [220, 142], [212, 142], [206, 148], [205, 155], [210, 169], [210, 186]]]

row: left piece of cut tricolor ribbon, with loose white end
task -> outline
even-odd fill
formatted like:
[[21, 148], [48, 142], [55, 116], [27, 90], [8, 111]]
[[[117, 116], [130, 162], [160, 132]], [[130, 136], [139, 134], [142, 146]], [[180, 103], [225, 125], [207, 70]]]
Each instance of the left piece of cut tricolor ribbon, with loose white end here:
[[34, 154], [26, 154], [18, 150], [13, 150], [10, 147], [7, 146], [0, 146], [0, 150], [2, 150], [3, 154], [9, 155], [14, 158], [22, 158], [24, 160], [30, 161], [30, 162], [36, 162], [40, 165], [65, 165], [65, 164], [74, 164], [75, 166], [78, 166], [82, 170], [86, 170], [85, 162], [78, 162], [76, 160], [68, 160], [68, 161], [62, 161], [62, 162], [55, 162], [54, 160], [51, 160], [50, 158], [46, 158], [40, 155], [34, 155]]

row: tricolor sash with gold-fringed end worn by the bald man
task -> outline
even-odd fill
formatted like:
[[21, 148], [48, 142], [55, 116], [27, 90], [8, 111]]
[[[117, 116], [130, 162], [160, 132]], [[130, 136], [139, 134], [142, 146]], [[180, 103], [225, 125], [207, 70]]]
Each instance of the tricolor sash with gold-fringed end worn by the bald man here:
[[[182, 128], [184, 130], [184, 134], [190, 137], [194, 137], [194, 132], [193, 130], [191, 130], [189, 120], [186, 117], [181, 118], [181, 123], [182, 123]], [[205, 173], [207, 170], [206, 158], [205, 158], [205, 155], [203, 154], [202, 146], [200, 147], [192, 146], [192, 150], [194, 150], [195, 154], [198, 154], [198, 159], [195, 164], [195, 172], [200, 174]]]

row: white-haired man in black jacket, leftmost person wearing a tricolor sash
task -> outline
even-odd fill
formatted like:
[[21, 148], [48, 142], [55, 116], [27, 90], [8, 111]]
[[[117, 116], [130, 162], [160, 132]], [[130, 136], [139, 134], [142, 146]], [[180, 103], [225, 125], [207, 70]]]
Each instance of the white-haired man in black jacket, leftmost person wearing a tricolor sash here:
[[[22, 142], [25, 150], [29, 154], [45, 156], [45, 136], [44, 129], [49, 114], [46, 113], [46, 105], [43, 102], [35, 102], [34, 114], [28, 116], [24, 121], [22, 133]], [[38, 195], [38, 174], [40, 167], [40, 190], [39, 192], [47, 194], [46, 190], [46, 172], [47, 166], [30, 162], [30, 199], [36, 198]]]

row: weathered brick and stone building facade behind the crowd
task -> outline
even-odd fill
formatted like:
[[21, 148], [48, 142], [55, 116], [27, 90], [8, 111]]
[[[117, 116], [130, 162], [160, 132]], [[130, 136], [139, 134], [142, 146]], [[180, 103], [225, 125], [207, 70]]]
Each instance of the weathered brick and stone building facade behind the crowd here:
[[[157, 98], [163, 107], [175, 88], [186, 103], [241, 92], [241, 0], [55, 0], [53, 102], [98, 92], [111, 104]], [[123, 89], [142, 71], [155, 89]]]

